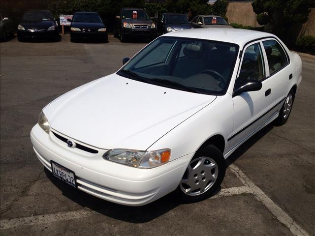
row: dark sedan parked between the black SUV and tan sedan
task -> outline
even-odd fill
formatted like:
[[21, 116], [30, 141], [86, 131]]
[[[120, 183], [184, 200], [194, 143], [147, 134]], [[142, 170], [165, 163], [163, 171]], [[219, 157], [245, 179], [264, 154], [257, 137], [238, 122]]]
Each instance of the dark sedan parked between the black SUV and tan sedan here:
[[180, 13], [163, 13], [162, 19], [158, 23], [158, 31], [161, 33], [190, 28], [192, 28], [192, 25], [189, 24], [187, 17]]

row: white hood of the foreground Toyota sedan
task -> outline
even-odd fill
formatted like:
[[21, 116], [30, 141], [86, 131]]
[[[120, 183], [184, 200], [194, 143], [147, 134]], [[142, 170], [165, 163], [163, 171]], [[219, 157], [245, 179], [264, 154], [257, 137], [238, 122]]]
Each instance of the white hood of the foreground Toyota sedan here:
[[96, 148], [146, 150], [215, 99], [112, 74], [65, 93], [43, 112], [53, 129]]

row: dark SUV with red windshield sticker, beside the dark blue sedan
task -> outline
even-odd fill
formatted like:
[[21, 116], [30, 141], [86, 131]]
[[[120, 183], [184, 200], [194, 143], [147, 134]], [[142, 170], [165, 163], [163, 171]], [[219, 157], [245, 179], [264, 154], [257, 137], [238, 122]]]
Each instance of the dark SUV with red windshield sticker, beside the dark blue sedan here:
[[122, 8], [116, 16], [114, 36], [122, 42], [131, 37], [154, 39], [157, 37], [157, 27], [145, 10]]

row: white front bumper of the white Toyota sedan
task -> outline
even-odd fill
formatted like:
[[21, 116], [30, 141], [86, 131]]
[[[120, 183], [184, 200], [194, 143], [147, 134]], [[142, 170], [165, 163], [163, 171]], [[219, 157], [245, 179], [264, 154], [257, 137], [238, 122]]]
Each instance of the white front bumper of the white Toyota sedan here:
[[193, 156], [192, 153], [145, 170], [104, 160], [105, 149], [97, 148], [98, 153], [93, 154], [68, 148], [52, 132], [47, 135], [38, 124], [32, 128], [31, 141], [36, 156], [50, 172], [53, 160], [75, 173], [78, 189], [127, 206], [142, 206], [174, 191]]

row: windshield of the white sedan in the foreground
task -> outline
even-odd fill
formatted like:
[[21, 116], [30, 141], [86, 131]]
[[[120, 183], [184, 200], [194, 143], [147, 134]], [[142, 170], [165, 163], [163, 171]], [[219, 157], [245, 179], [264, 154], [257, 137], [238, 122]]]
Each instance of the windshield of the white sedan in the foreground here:
[[172, 89], [224, 94], [239, 47], [235, 44], [180, 37], [159, 37], [117, 74]]

